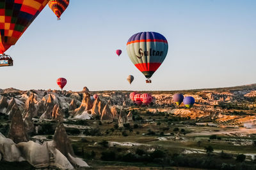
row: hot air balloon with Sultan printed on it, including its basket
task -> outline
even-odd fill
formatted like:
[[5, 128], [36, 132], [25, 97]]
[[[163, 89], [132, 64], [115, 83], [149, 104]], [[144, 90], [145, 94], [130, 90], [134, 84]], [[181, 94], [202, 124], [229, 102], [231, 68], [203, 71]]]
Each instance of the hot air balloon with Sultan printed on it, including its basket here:
[[168, 42], [157, 32], [139, 32], [127, 41], [127, 53], [132, 63], [145, 75], [146, 83], [161, 66], [168, 52]]

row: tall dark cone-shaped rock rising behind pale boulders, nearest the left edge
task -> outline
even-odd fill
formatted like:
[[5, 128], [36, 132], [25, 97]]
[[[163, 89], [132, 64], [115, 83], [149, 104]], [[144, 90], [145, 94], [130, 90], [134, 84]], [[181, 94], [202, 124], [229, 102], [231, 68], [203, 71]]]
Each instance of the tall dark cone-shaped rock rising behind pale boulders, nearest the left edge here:
[[12, 122], [8, 134], [8, 138], [12, 139], [15, 143], [28, 141], [28, 136], [25, 131], [22, 115], [19, 108], [15, 104], [11, 110]]

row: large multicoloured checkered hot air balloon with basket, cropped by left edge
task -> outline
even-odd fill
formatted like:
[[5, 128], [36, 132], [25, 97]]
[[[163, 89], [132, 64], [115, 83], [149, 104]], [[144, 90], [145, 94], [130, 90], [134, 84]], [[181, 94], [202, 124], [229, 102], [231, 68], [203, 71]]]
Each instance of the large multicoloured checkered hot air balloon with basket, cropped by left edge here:
[[[20, 36], [28, 29], [49, 0], [1, 0], [0, 2], [0, 57], [2, 64], [12, 66], [12, 58], [7, 60], [4, 52], [15, 45]], [[3, 61], [5, 60], [5, 61]], [[1, 65], [4, 66], [4, 65]]]

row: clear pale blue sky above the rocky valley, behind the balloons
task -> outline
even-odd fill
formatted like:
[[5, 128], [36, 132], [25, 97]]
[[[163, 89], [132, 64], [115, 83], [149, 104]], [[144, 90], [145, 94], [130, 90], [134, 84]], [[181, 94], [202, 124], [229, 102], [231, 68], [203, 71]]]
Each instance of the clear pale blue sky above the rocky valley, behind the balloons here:
[[[256, 83], [256, 1], [70, 0], [57, 21], [48, 6], [6, 51], [0, 89], [184, 90]], [[145, 83], [127, 40], [154, 31], [168, 40], [163, 64]], [[122, 55], [115, 54], [121, 49]], [[131, 85], [126, 78], [134, 76]]]

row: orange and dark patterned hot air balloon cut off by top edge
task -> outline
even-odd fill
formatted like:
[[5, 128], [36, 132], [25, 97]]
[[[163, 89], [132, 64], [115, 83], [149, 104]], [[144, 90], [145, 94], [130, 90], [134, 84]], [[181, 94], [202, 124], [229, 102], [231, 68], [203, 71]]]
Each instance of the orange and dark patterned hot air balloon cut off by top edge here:
[[69, 0], [50, 0], [48, 6], [53, 13], [57, 16], [57, 20], [60, 20], [60, 16], [67, 9]]

